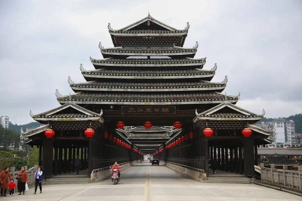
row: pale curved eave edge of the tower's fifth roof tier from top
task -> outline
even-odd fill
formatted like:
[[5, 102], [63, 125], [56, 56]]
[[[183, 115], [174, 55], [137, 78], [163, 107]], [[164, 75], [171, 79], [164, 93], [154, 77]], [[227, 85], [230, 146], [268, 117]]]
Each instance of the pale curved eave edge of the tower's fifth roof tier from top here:
[[192, 87], [192, 88], [97, 88], [97, 87], [72, 87], [74, 92], [78, 91], [205, 91], [219, 90], [222, 91], [225, 86], [221, 87]]

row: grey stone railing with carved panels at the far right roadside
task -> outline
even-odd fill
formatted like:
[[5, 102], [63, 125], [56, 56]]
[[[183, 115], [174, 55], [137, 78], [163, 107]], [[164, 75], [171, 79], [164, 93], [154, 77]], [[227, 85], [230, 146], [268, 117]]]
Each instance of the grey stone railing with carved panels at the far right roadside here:
[[302, 166], [298, 171], [261, 167], [261, 180], [302, 189]]

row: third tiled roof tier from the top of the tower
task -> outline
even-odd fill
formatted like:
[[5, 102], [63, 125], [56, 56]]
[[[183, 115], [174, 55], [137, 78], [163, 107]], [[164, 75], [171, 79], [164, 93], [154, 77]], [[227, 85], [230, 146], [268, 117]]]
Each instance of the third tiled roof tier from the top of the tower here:
[[94, 65], [110, 65], [110, 66], [191, 66], [204, 65], [206, 59], [90, 59]]

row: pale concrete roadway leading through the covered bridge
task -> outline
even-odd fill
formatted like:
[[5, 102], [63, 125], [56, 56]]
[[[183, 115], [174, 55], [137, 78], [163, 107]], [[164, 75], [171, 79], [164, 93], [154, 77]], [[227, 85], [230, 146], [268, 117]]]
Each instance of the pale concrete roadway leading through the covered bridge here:
[[244, 200], [301, 201], [302, 197], [255, 185], [236, 183], [200, 183], [185, 178], [165, 166], [138, 163], [121, 173], [121, 181], [111, 179], [89, 184], [43, 185], [42, 193], [1, 197], [0, 200], [103, 201], [103, 200]]

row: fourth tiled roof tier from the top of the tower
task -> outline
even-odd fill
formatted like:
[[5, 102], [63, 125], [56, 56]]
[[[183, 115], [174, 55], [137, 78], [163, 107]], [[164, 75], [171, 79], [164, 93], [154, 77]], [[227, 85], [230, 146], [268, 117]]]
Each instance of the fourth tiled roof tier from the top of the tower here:
[[[199, 69], [186, 69], [186, 70], [108, 70], [98, 69], [94, 71], [82, 71], [82, 74], [88, 76], [98, 77], [126, 77], [126, 78], [161, 78], [161, 77], [207, 77], [214, 76], [214, 70], [199, 70]], [[147, 77], [145, 77], [147, 76]]]

